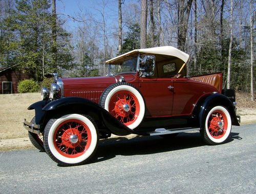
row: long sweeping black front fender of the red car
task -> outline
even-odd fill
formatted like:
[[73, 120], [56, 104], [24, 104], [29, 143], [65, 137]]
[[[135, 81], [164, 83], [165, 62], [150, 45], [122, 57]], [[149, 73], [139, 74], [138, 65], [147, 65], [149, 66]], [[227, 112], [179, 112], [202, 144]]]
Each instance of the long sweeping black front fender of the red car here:
[[[38, 102], [38, 104], [40, 104], [40, 102]], [[39, 120], [48, 120], [52, 116], [59, 114], [88, 114], [96, 119], [96, 123], [102, 123], [111, 133], [115, 135], [123, 136], [134, 133], [133, 130], [120, 123], [119, 120], [113, 117], [108, 111], [98, 104], [79, 97], [65, 97], [51, 101], [41, 108], [41, 112], [45, 113], [45, 115], [40, 114], [40, 116], [44, 118], [38, 118]]]

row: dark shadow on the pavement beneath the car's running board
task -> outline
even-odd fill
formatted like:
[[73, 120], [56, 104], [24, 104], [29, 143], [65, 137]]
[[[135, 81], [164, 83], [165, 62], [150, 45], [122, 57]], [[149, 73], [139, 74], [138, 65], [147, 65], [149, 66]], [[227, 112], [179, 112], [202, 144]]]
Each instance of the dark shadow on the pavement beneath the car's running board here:
[[199, 132], [179, 133], [173, 138], [161, 136], [138, 136], [132, 139], [117, 137], [100, 140], [97, 158], [92, 163], [108, 160], [117, 155], [145, 155], [161, 152], [170, 152], [188, 148], [206, 146]]

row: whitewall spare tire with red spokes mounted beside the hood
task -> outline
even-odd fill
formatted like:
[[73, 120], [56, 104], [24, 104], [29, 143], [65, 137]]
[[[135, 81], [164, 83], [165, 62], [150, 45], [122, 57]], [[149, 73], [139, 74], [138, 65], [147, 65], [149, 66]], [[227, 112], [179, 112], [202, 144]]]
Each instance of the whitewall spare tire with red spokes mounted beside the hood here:
[[99, 104], [121, 123], [135, 129], [145, 114], [145, 103], [140, 92], [129, 83], [110, 85], [101, 94]]

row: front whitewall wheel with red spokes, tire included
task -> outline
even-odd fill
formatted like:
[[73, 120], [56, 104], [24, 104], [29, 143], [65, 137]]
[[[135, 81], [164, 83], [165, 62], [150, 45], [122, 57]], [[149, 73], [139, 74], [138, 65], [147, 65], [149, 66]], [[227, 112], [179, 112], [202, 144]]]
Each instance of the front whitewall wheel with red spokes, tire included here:
[[67, 114], [52, 118], [45, 128], [46, 153], [60, 165], [80, 165], [90, 161], [98, 141], [97, 126], [88, 115]]

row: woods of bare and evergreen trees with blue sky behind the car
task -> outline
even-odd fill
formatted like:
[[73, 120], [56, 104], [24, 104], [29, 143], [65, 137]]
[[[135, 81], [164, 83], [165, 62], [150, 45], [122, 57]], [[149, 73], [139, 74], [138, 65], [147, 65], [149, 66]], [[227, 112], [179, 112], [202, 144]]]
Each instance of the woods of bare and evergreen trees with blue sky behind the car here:
[[224, 88], [254, 100], [253, 0], [79, 2], [67, 14], [64, 0], [0, 0], [0, 68], [17, 64], [36, 81], [105, 76], [108, 59], [171, 45], [190, 55], [189, 76], [221, 71]]

